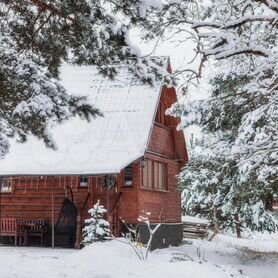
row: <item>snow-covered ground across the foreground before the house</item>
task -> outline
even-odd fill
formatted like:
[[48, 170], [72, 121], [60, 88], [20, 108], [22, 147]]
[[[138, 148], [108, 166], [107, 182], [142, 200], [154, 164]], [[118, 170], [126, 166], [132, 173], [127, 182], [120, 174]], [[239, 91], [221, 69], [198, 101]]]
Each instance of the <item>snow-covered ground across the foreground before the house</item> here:
[[0, 277], [277, 278], [277, 240], [278, 234], [248, 239], [218, 235], [212, 242], [190, 240], [156, 250], [147, 261], [139, 261], [123, 239], [82, 250], [2, 246]]

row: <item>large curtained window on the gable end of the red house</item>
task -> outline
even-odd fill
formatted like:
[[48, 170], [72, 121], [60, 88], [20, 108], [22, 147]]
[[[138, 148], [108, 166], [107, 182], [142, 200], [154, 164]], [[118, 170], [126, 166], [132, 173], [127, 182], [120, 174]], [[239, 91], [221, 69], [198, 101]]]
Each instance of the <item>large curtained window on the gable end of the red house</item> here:
[[158, 190], [167, 189], [167, 165], [162, 162], [146, 160], [143, 168], [143, 187]]

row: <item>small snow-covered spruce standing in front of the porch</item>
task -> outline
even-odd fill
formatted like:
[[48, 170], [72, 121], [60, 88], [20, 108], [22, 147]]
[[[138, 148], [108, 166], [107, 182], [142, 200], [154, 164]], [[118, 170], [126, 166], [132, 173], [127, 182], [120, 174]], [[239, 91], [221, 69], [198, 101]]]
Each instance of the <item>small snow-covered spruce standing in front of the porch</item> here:
[[103, 219], [107, 210], [100, 205], [99, 200], [88, 212], [91, 218], [85, 220], [82, 242], [84, 245], [103, 240], [111, 235], [109, 222]]

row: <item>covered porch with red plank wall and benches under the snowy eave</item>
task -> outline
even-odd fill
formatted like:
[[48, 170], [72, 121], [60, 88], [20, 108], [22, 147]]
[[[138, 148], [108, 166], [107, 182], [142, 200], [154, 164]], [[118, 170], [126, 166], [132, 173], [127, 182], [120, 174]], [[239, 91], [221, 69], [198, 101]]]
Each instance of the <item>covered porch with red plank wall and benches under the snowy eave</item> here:
[[[88, 209], [100, 199], [118, 230], [120, 194], [103, 178], [79, 176], [6, 177], [0, 185], [0, 244], [79, 248]], [[115, 180], [116, 182], [116, 180]]]

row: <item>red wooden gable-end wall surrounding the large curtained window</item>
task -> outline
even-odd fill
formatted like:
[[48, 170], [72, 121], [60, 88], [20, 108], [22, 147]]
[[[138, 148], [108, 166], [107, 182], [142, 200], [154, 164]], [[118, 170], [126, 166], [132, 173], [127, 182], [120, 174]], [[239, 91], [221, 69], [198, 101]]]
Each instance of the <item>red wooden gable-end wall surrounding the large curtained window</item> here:
[[187, 151], [182, 131], [177, 131], [177, 118], [165, 114], [167, 108], [177, 101], [174, 89], [163, 88], [158, 123], [154, 124], [146, 159], [163, 162], [167, 165], [167, 190], [147, 189], [139, 186], [139, 213], [151, 212], [154, 222], [179, 223], [181, 221], [181, 198], [177, 191], [176, 175], [187, 162]]

